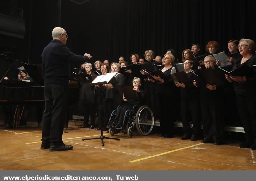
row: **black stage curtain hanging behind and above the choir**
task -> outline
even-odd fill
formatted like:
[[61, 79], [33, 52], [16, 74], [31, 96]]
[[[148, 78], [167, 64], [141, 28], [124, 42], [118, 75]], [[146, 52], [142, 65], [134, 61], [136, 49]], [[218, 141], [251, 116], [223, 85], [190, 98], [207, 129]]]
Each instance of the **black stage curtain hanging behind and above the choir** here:
[[[30, 63], [41, 63], [43, 48], [57, 26], [58, 1], [30, 1]], [[145, 50], [163, 56], [181, 52], [193, 43], [215, 40], [228, 51], [231, 39], [255, 39], [256, 2], [253, 0], [90, 0], [76, 4], [61, 0], [61, 27], [76, 54], [90, 53], [92, 61], [117, 62], [130, 54], [144, 58]], [[28, 29], [27, 29], [28, 30]]]

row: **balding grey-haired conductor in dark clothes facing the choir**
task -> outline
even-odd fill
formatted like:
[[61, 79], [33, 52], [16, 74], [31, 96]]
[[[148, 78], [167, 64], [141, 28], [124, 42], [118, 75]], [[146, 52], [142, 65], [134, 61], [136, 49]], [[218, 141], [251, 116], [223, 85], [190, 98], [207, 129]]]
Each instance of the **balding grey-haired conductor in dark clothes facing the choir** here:
[[65, 145], [62, 134], [68, 107], [69, 95], [69, 63], [83, 64], [92, 56], [72, 53], [66, 46], [68, 34], [61, 27], [52, 30], [53, 40], [44, 48], [42, 65], [44, 67], [44, 98], [45, 110], [43, 115], [41, 149], [50, 151], [66, 151], [73, 149]]

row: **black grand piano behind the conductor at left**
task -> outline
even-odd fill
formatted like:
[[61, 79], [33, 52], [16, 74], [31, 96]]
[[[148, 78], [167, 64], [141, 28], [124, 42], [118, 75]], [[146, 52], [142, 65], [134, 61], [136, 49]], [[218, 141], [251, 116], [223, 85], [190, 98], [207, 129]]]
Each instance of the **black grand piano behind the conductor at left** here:
[[[8, 61], [12, 61], [8, 55], [1, 54]], [[0, 80], [0, 105], [16, 105], [15, 116], [13, 118], [13, 126], [19, 127], [20, 119], [24, 107], [29, 106], [43, 106], [44, 100], [44, 71], [42, 65], [32, 65], [21, 62], [29, 76], [33, 79], [33, 82], [23, 81], [4, 81], [4, 76]], [[8, 69], [9, 71], [9, 69]], [[69, 84], [69, 100], [68, 111], [65, 125], [65, 132], [68, 132], [68, 120], [70, 107], [77, 103], [79, 100], [79, 88], [80, 84], [76, 80], [70, 80]], [[18, 106], [21, 105], [21, 110], [18, 114]], [[41, 122], [42, 120], [40, 120]]]

